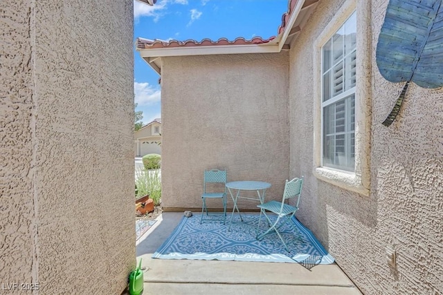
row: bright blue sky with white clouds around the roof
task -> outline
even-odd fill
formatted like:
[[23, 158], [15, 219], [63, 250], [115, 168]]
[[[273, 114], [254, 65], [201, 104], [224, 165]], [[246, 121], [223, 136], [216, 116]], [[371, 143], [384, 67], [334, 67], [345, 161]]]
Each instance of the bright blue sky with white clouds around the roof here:
[[[137, 37], [179, 41], [268, 39], [277, 35], [287, 10], [288, 0], [157, 0], [154, 6], [134, 0], [134, 41]], [[161, 117], [159, 75], [135, 47], [134, 79], [136, 111], [143, 111], [143, 122]]]

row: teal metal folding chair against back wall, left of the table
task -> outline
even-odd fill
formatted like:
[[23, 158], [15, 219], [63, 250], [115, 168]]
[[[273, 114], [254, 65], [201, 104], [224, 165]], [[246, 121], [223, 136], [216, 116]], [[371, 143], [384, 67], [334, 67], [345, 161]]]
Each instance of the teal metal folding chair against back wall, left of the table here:
[[[223, 192], [208, 192], [207, 184], [223, 184]], [[221, 198], [223, 202], [223, 223], [226, 224], [226, 171], [225, 170], [207, 170], [204, 171], [204, 184], [203, 193], [201, 194], [201, 199], [203, 200], [203, 206], [201, 207], [201, 219], [200, 224], [203, 222], [204, 212], [206, 211], [206, 216], [208, 216], [208, 208], [206, 207], [206, 199]]]

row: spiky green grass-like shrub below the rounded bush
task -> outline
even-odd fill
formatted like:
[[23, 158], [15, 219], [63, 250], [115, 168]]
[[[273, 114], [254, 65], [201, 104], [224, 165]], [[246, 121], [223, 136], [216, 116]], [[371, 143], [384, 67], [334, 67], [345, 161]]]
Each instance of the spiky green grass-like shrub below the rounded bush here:
[[146, 195], [154, 200], [154, 205], [161, 203], [161, 172], [159, 169], [136, 169], [136, 199]]

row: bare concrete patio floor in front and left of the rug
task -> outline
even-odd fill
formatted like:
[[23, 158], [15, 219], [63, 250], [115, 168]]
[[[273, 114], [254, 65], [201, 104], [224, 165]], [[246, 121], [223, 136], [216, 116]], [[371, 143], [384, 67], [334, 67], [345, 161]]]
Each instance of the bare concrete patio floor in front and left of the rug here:
[[143, 294], [361, 294], [338, 265], [152, 259], [183, 213], [163, 212], [136, 246], [146, 267]]

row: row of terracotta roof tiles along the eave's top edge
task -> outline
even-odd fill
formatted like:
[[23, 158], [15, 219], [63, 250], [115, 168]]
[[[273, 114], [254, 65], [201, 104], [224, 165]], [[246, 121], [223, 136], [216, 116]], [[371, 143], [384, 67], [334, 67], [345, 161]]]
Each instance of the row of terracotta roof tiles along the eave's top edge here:
[[[278, 34], [284, 31], [287, 26], [289, 17], [293, 12], [293, 8], [296, 6], [298, 0], [288, 0], [288, 11], [284, 12], [282, 15], [282, 24], [278, 27]], [[220, 38], [217, 41], [211, 39], [203, 39], [201, 41], [196, 41], [193, 39], [188, 39], [186, 41], [179, 41], [172, 39], [169, 41], [160, 39], [136, 39], [136, 48], [138, 49], [150, 49], [150, 48], [174, 48], [174, 47], [192, 47], [192, 46], [219, 46], [219, 45], [250, 45], [250, 44], [264, 44], [275, 39], [275, 36], [269, 37], [268, 39], [263, 39], [262, 37], [254, 37], [252, 39], [245, 39], [244, 37], [238, 37], [234, 41], [229, 41], [226, 38]]]

